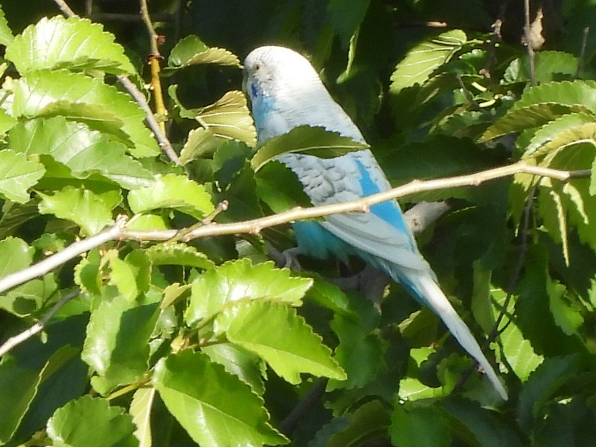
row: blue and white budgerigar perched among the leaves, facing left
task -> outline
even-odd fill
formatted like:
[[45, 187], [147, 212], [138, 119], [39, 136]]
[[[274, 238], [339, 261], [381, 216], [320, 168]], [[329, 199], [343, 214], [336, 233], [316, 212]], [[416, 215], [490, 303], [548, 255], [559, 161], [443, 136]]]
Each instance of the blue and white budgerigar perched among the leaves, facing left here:
[[[364, 142], [311, 63], [297, 52], [281, 46], [262, 46], [246, 57], [244, 71], [244, 89], [252, 104], [259, 142], [302, 125], [322, 126]], [[391, 187], [368, 149], [330, 159], [288, 153], [279, 160], [296, 174], [314, 205], [354, 200]], [[319, 259], [356, 255], [402, 284], [443, 320], [486, 371], [499, 395], [507, 399], [491, 364], [418, 251], [397, 201], [371, 206], [368, 213], [331, 215], [324, 222], [296, 222], [294, 232], [303, 254]]]

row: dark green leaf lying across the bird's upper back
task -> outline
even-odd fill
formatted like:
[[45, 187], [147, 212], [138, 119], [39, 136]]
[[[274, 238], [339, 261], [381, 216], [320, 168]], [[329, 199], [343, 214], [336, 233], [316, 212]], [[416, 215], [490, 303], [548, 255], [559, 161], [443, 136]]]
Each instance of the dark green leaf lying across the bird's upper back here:
[[299, 126], [287, 134], [269, 139], [254, 154], [253, 159], [250, 160], [250, 166], [258, 171], [270, 160], [289, 152], [330, 159], [367, 147], [367, 144], [354, 141], [347, 136], [340, 136], [338, 132], [330, 132], [321, 127]]

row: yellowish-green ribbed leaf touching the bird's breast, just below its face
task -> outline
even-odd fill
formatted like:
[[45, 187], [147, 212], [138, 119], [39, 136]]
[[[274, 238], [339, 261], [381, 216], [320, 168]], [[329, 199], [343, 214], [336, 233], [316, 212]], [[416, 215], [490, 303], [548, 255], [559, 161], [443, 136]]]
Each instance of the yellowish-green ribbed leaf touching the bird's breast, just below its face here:
[[226, 92], [215, 103], [199, 110], [194, 119], [215, 136], [256, 144], [256, 129], [246, 104], [246, 96], [238, 90]]

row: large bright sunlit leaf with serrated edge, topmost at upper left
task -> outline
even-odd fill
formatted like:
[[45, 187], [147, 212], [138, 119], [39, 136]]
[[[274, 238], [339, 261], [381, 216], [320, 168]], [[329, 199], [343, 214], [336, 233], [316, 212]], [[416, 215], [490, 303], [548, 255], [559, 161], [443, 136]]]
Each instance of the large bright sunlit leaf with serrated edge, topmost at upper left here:
[[21, 75], [44, 69], [101, 70], [135, 73], [114, 35], [87, 18], [44, 17], [28, 26], [7, 46], [6, 58]]

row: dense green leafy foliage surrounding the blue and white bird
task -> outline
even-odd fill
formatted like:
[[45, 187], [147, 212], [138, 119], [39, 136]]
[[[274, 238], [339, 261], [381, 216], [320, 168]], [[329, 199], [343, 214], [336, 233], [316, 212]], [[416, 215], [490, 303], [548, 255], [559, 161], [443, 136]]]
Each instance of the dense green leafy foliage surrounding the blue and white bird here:
[[[263, 44], [311, 58], [394, 185], [519, 160], [594, 164], [589, 0], [532, 1], [525, 36], [513, 0], [152, 0], [167, 135], [184, 167], [160, 155], [114, 76], [129, 75], [155, 107], [138, 2], [70, 3], [79, 14], [86, 5], [111, 34], [56, 17], [50, 0], [1, 2], [2, 277], [118, 215], [141, 231], [192, 225], [222, 200], [221, 223], [303, 203], [281, 166], [250, 163], [234, 55]], [[418, 242], [477, 338], [490, 337], [507, 402], [398, 285], [378, 312], [315, 273], [346, 266], [275, 268], [264, 241], [293, 246], [281, 225], [112, 241], [2, 294], [2, 342], [76, 296], [2, 356], [0, 443], [594, 445], [595, 192], [585, 176], [519, 174], [402, 200], [448, 201]]]

